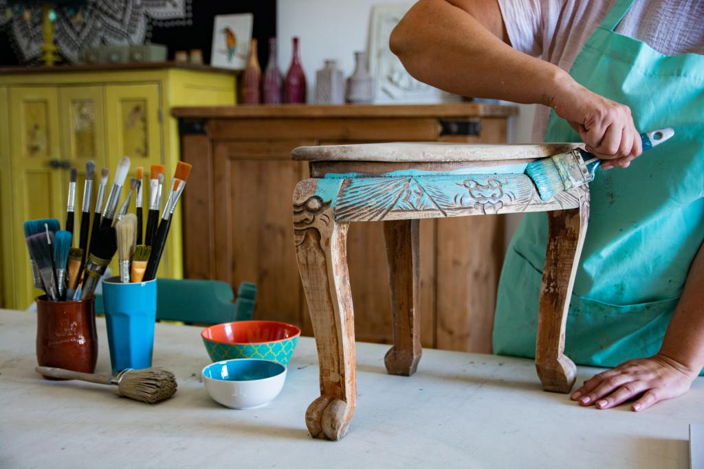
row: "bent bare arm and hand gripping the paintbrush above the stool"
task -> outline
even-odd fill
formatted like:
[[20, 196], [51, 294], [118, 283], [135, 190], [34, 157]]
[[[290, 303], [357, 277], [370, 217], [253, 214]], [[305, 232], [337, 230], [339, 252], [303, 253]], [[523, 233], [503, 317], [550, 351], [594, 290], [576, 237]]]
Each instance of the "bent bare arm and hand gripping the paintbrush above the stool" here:
[[541, 103], [589, 150], [627, 167], [641, 154], [631, 111], [594, 94], [556, 65], [508, 44], [496, 0], [420, 0], [391, 33], [391, 51], [421, 82], [462, 96]]

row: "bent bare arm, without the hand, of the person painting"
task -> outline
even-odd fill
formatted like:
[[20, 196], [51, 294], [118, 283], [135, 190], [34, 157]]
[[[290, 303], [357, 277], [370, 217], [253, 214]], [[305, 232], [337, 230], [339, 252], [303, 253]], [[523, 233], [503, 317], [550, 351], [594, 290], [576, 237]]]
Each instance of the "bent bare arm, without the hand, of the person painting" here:
[[558, 89], [574, 86], [556, 65], [506, 44], [503, 29], [496, 0], [420, 0], [390, 46], [410, 75], [462, 96], [553, 105]]

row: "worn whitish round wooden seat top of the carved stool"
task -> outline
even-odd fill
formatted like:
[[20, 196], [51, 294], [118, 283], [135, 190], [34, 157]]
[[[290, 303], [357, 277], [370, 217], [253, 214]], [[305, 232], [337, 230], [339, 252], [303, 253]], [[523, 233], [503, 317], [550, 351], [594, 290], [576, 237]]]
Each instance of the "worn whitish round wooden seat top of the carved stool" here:
[[294, 160], [304, 161], [467, 162], [543, 158], [572, 150], [578, 146], [580, 146], [578, 143], [535, 143], [530, 145], [497, 143], [487, 145], [436, 141], [393, 142], [304, 146], [296, 148], [291, 155]]

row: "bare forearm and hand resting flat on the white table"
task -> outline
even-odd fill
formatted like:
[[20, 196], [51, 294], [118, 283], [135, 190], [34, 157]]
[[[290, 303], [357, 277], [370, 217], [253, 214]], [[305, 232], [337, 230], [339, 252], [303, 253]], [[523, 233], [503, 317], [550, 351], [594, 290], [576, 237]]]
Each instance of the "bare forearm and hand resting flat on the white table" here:
[[689, 268], [684, 291], [657, 355], [629, 360], [599, 373], [572, 394], [583, 406], [608, 409], [642, 394], [631, 409], [642, 411], [689, 390], [704, 368], [704, 245]]

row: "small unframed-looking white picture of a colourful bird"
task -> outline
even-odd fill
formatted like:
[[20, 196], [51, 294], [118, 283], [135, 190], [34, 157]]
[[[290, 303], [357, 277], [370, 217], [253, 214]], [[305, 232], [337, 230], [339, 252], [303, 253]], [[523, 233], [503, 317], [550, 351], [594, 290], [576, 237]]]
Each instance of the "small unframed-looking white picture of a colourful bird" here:
[[213, 51], [210, 65], [213, 67], [244, 70], [252, 39], [252, 13], [238, 15], [216, 15], [213, 25]]

